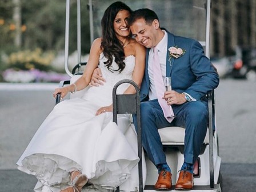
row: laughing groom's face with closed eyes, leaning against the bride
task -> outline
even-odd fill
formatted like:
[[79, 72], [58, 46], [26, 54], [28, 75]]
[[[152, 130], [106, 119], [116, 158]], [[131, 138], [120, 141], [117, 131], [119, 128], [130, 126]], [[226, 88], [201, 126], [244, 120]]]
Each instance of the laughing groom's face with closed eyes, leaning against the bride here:
[[157, 19], [155, 19], [151, 25], [146, 23], [143, 18], [137, 19], [130, 26], [131, 34], [133, 34], [135, 40], [147, 48], [155, 47], [157, 45], [158, 28], [159, 22]]

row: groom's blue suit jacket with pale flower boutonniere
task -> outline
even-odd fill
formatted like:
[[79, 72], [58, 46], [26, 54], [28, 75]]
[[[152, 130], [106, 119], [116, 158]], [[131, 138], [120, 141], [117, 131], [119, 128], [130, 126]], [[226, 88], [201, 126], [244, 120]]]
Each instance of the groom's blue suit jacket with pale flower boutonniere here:
[[[178, 93], [186, 92], [197, 101], [204, 100], [207, 92], [215, 89], [219, 84], [217, 72], [209, 58], [205, 56], [203, 47], [198, 41], [166, 32], [168, 34], [166, 76], [171, 77], [172, 90]], [[168, 49], [171, 46], [177, 46], [186, 52], [177, 59], [171, 58], [170, 63]], [[145, 75], [141, 85], [141, 101], [147, 101], [149, 95], [148, 60], [149, 49], [146, 53]]]

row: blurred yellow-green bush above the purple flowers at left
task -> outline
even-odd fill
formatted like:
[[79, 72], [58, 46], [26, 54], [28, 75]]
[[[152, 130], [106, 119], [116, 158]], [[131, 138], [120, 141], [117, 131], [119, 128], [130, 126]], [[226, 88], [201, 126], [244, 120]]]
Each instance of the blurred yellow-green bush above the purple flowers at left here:
[[7, 68], [49, 71], [51, 69], [50, 63], [53, 59], [54, 53], [51, 51], [45, 53], [41, 49], [18, 51], [10, 54], [7, 59]]

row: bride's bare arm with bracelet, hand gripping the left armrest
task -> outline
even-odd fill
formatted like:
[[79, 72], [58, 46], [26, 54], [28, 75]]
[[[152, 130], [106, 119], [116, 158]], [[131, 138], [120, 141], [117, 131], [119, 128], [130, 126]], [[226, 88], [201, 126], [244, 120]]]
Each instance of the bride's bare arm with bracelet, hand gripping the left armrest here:
[[57, 88], [54, 91], [54, 98], [58, 93], [61, 93], [61, 98], [65, 97], [67, 93], [71, 91], [79, 91], [82, 89], [85, 89], [91, 81], [91, 75], [93, 74], [93, 70], [98, 66], [99, 63], [99, 54], [101, 52], [101, 38], [95, 39], [93, 42], [93, 45], [91, 45], [90, 55], [87, 62], [87, 65], [85, 67], [85, 70], [83, 71], [82, 77], [77, 79], [73, 84]]

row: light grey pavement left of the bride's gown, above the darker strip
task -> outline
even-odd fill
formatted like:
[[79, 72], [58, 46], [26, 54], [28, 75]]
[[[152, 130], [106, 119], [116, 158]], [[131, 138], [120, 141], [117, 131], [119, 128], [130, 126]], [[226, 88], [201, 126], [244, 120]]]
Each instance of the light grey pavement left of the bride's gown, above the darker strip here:
[[17, 84], [9, 85], [9, 90], [0, 86], [0, 169], [15, 169], [18, 157], [53, 109], [57, 85]]

